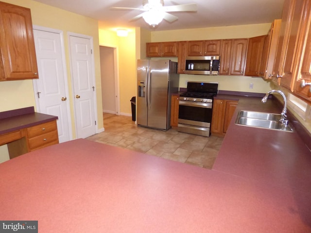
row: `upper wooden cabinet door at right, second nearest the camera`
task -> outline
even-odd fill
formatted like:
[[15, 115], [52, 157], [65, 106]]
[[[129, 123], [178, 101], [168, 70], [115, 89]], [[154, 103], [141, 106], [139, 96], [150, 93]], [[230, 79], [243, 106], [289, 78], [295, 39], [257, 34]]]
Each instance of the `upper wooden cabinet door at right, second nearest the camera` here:
[[[292, 18], [288, 19], [288, 24], [290, 30], [288, 31], [288, 40], [286, 42], [287, 46], [284, 48], [284, 57], [283, 67], [279, 70], [280, 84], [285, 86], [293, 91], [293, 73], [294, 73], [294, 59], [295, 53], [297, 52], [297, 41], [299, 38], [299, 32], [301, 30], [302, 24], [305, 20], [305, 15], [303, 13], [303, 8], [305, 7], [306, 2], [309, 0], [295, 0], [294, 9]], [[284, 44], [285, 45], [285, 44]], [[293, 82], [293, 83], [292, 83]]]

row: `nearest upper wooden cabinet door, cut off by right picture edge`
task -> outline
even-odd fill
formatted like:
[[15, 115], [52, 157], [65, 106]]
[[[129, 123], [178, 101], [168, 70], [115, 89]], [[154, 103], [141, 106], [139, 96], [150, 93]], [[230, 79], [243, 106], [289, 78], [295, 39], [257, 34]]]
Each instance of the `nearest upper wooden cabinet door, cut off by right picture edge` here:
[[[297, 56], [297, 77], [294, 83], [294, 92], [311, 101], [311, 1], [304, 10], [306, 17], [302, 27]], [[301, 83], [308, 85], [301, 87]]]

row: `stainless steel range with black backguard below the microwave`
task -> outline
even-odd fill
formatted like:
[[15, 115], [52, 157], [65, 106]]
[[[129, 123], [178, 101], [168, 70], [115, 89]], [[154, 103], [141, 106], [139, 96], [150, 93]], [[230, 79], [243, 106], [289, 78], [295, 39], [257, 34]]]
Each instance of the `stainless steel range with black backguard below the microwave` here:
[[188, 82], [179, 98], [178, 131], [209, 137], [218, 83]]

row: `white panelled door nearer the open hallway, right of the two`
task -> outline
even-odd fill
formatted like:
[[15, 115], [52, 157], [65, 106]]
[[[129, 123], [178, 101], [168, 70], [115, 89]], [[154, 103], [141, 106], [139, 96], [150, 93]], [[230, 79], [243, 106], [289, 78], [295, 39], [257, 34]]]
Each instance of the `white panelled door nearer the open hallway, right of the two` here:
[[69, 35], [77, 138], [96, 133], [95, 78], [90, 38]]

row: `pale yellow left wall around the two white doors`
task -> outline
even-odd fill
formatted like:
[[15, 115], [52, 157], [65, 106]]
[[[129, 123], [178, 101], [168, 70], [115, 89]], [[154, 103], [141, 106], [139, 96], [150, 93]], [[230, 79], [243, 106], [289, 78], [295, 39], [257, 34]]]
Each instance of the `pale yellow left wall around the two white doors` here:
[[[71, 89], [71, 76], [69, 68], [69, 48], [67, 33], [80, 33], [93, 37], [94, 45], [94, 61], [95, 61], [95, 78], [97, 91], [97, 111], [98, 111], [98, 129], [102, 129], [102, 98], [101, 98], [101, 75], [100, 75], [100, 56], [99, 56], [99, 37], [98, 37], [98, 22], [89, 17], [73, 14], [71, 12], [61, 10], [46, 4], [42, 4], [33, 0], [2, 0], [11, 4], [27, 7], [31, 9], [33, 24], [62, 30], [64, 32], [65, 55], [67, 64], [68, 86], [69, 86], [69, 101], [71, 120], [73, 118], [73, 101]], [[7, 111], [28, 106], [35, 106], [35, 95], [33, 90], [33, 82], [27, 81], [7, 81], [0, 82], [0, 111]], [[74, 123], [72, 123], [74, 124]], [[75, 127], [72, 125], [73, 137], [75, 138]]]

